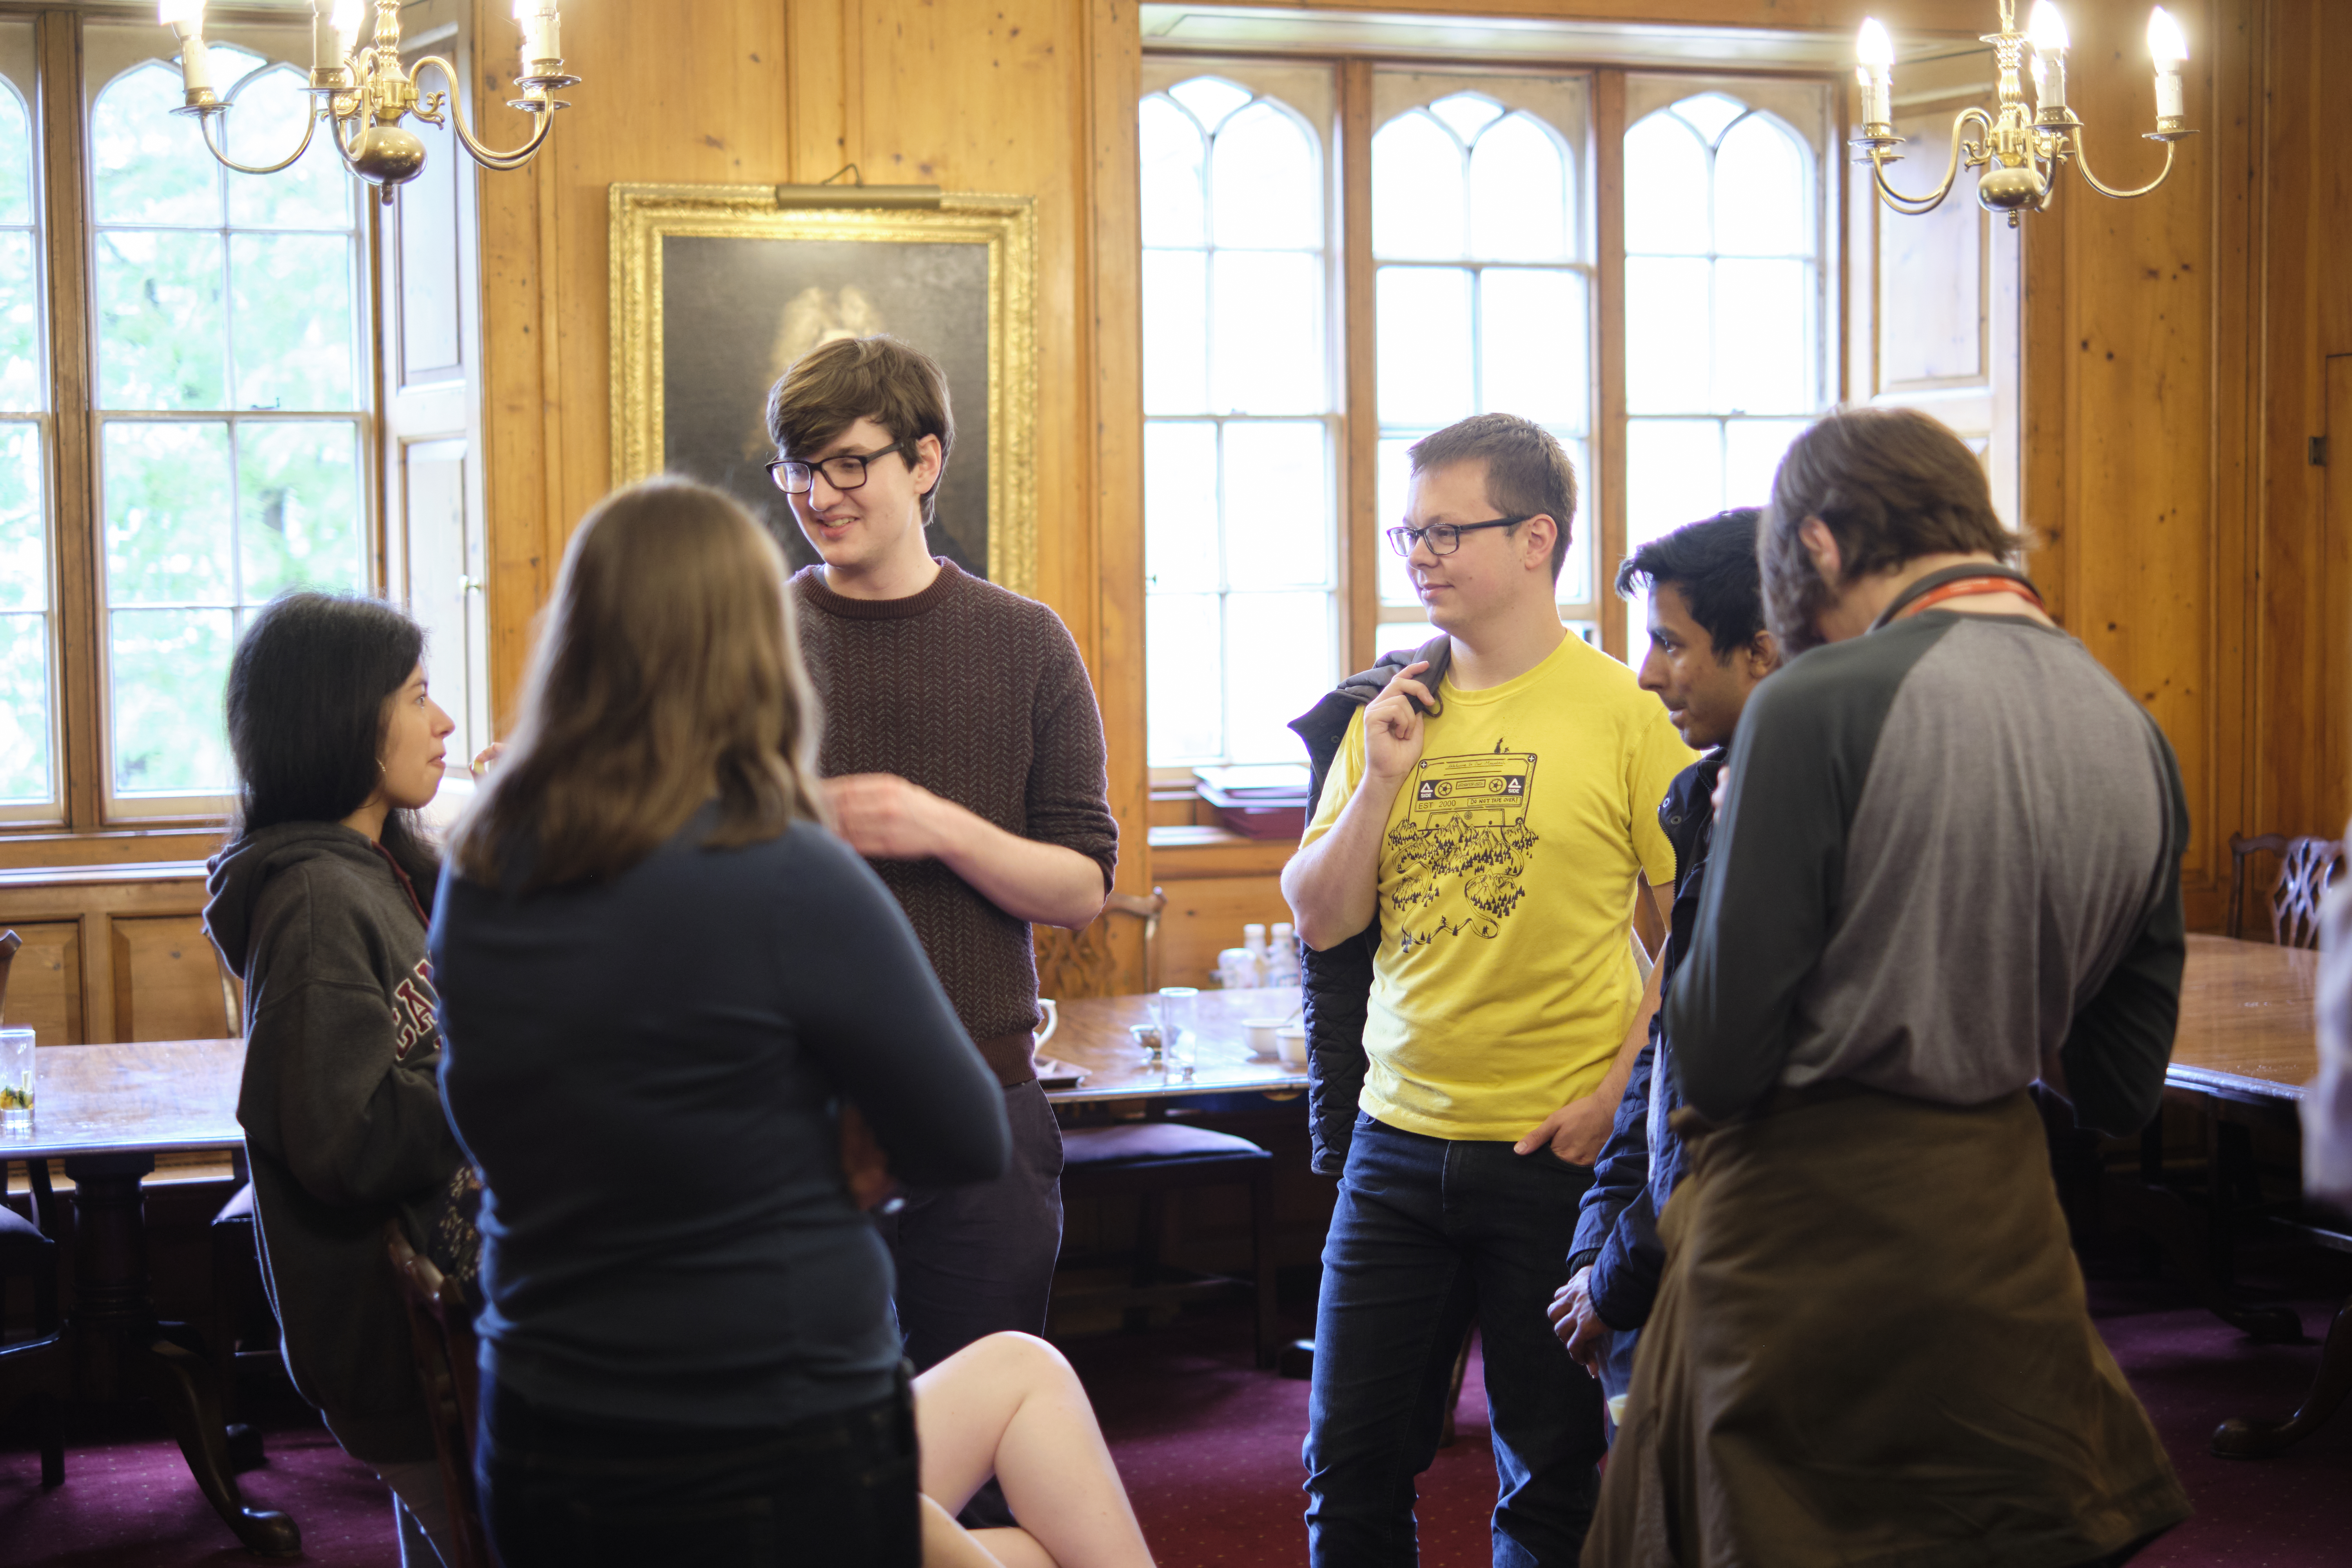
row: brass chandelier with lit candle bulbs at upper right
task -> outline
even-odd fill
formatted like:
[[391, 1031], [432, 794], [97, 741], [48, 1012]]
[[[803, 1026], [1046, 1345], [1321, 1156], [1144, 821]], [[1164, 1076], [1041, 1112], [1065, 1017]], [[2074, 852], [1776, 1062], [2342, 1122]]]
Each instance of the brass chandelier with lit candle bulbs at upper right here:
[[[2020, 33], [2018, 2], [1999, 0], [1999, 5], [2002, 31], [1987, 33], [1985, 42], [1992, 45], [1994, 63], [2002, 71], [2002, 106], [1990, 115], [1976, 106], [1959, 110], [1952, 120], [1952, 155], [1945, 160], [1943, 183], [1929, 195], [1903, 195], [1886, 183], [1886, 165], [1903, 158], [1896, 153], [1903, 136], [1896, 136], [1891, 110], [1896, 47], [1875, 16], [1863, 21], [1863, 35], [1856, 42], [1860, 66], [1853, 71], [1863, 85], [1863, 134], [1853, 139], [1853, 146], [1860, 153], [1856, 162], [1870, 160], [1872, 183], [1886, 205], [1905, 214], [1933, 212], [1952, 193], [1952, 181], [1959, 179], [1964, 165], [1983, 169], [1976, 179], [1976, 200], [1987, 212], [2006, 212], [2011, 228], [2018, 226], [2020, 214], [2044, 212], [2051, 205], [2058, 193], [2058, 172], [2067, 162], [2074, 165], [2084, 183], [2117, 200], [2147, 195], [2161, 186], [2173, 172], [2173, 143], [2197, 134], [2183, 125], [2180, 115], [2180, 63], [2190, 56], [2190, 45], [2171, 12], [2159, 5], [2147, 19], [2147, 54], [2157, 63], [2157, 129], [2147, 132], [2147, 141], [2164, 143], [2164, 167], [2138, 190], [2117, 190], [2091, 174], [2082, 146], [2084, 125], [2065, 103], [2067, 31], [2058, 7], [2051, 0], [2034, 0], [2032, 19]], [[2025, 87], [2018, 78], [2027, 49], [2034, 56], [2032, 110], [2025, 108]], [[1971, 125], [1978, 127], [1980, 136], [1966, 134]]]

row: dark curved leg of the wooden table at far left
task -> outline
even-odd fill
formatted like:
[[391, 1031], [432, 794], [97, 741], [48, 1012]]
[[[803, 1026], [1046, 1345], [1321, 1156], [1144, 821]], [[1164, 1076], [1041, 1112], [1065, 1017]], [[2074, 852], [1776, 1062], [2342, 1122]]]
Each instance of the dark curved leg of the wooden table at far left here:
[[296, 1556], [301, 1530], [287, 1514], [245, 1507], [228, 1467], [221, 1389], [209, 1361], [174, 1345], [148, 1300], [146, 1194], [153, 1154], [78, 1154], [73, 1178], [73, 1338], [82, 1387], [143, 1394], [162, 1413], [214, 1512], [261, 1556]]

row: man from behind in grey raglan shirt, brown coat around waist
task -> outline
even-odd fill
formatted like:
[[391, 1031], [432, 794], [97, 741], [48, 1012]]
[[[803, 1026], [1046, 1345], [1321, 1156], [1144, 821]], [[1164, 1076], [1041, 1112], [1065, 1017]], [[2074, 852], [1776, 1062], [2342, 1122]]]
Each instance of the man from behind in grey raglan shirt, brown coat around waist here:
[[2180, 771], [1926, 414], [1820, 418], [1757, 538], [1795, 658], [1665, 997], [1689, 1173], [1585, 1561], [2122, 1563], [2187, 1495], [2027, 1088], [2107, 1133], [2159, 1105]]

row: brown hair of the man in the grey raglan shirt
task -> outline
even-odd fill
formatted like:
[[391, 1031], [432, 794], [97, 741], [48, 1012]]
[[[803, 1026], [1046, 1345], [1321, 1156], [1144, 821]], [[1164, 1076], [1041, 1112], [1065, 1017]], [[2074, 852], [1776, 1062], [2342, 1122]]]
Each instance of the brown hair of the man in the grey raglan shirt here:
[[1823, 583], [1799, 529], [1818, 517], [1837, 538], [1844, 576], [1889, 571], [1922, 555], [1999, 555], [2025, 548], [1992, 510], [1992, 487], [1950, 428], [1917, 409], [1832, 409], [1799, 435], [1757, 524], [1764, 616], [1788, 654], [1820, 642]]

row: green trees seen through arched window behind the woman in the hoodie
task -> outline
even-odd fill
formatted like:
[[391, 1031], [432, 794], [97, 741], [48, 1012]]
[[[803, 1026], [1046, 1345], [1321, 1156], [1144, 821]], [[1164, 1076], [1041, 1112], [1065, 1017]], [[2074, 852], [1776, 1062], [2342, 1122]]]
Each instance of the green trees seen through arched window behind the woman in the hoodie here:
[[[228, 45], [212, 61], [233, 155], [292, 150], [301, 73]], [[223, 174], [176, 106], [179, 75], [146, 63], [92, 113], [120, 795], [223, 792], [221, 679], [252, 609], [367, 585], [360, 423], [287, 418], [360, 407], [350, 183], [325, 134], [285, 174]], [[0, 306], [0, 376], [5, 353]]]

